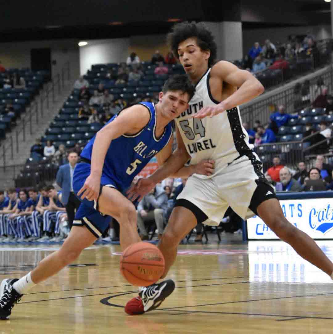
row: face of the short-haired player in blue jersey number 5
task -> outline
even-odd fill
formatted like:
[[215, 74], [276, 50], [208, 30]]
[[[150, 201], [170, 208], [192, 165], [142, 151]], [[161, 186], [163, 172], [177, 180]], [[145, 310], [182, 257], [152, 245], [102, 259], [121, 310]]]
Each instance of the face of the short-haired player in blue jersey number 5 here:
[[188, 108], [189, 96], [182, 91], [159, 93], [162, 115], [170, 120], [175, 119]]

